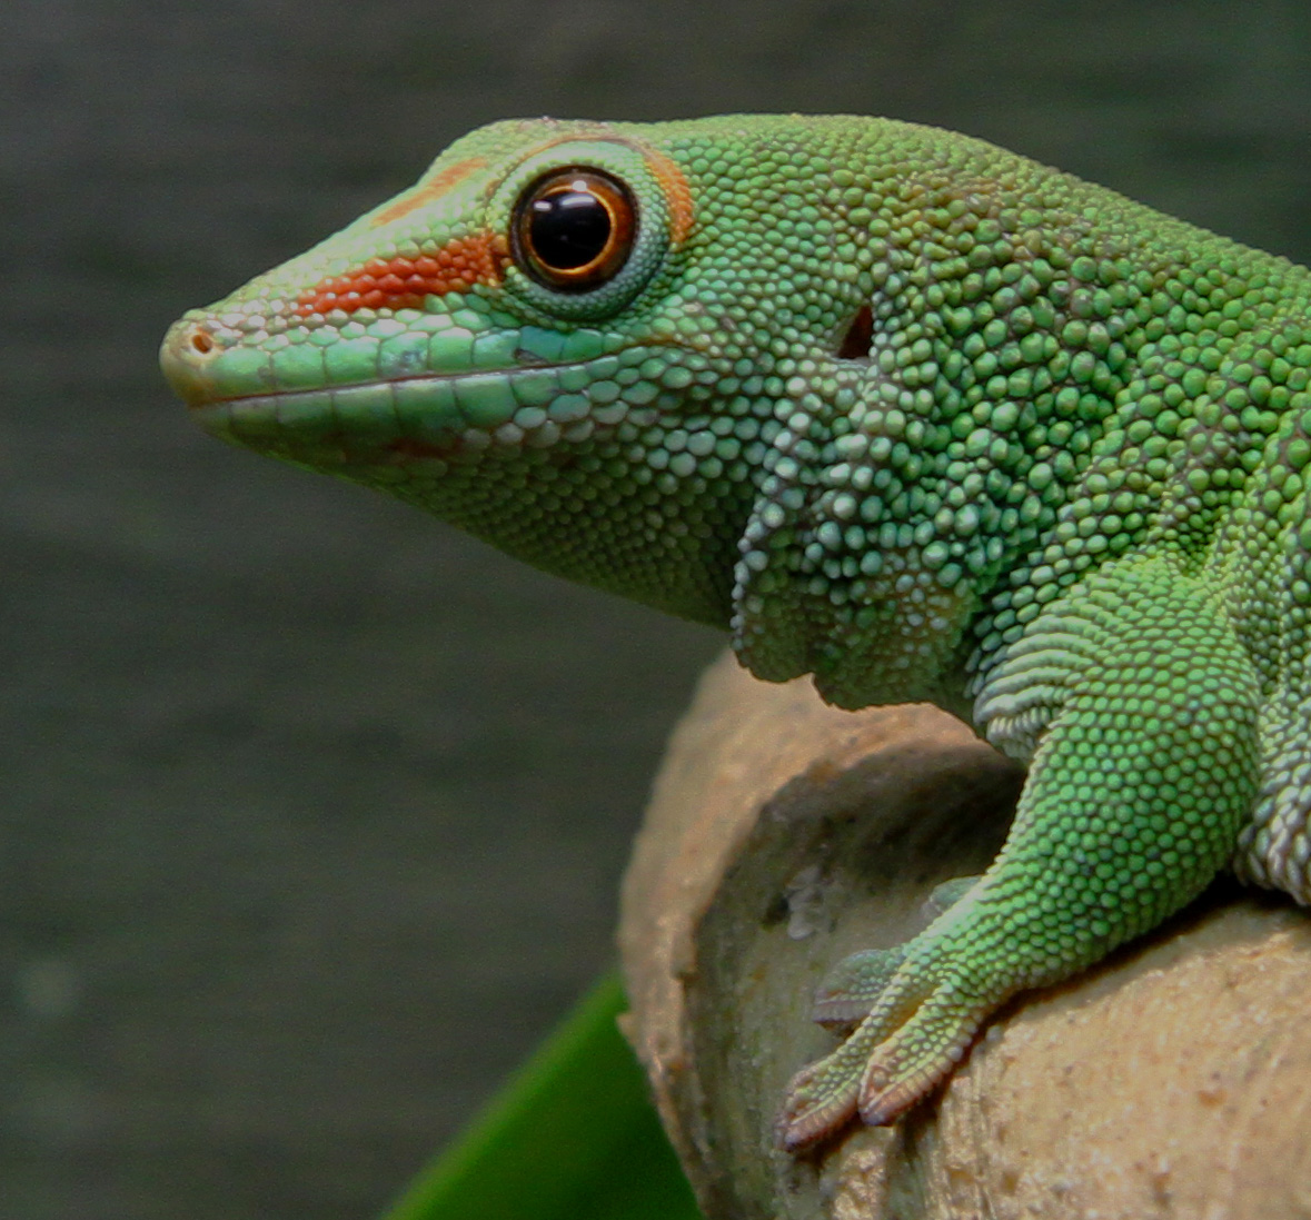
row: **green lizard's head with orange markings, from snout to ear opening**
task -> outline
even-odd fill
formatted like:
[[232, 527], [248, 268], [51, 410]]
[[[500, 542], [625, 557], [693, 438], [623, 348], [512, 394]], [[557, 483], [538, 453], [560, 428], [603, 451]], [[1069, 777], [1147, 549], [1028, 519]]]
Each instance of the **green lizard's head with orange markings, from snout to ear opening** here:
[[229, 442], [725, 626], [763, 453], [798, 409], [787, 378], [831, 356], [861, 302], [789, 176], [804, 142], [756, 143], [697, 123], [484, 127], [180, 319], [164, 371]]

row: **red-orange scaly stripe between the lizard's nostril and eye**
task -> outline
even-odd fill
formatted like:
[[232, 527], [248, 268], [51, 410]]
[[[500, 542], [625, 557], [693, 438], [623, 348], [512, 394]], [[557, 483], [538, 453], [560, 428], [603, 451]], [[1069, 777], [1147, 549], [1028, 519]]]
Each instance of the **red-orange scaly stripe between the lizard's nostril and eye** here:
[[417, 258], [370, 258], [361, 268], [321, 279], [296, 298], [302, 317], [341, 310], [420, 310], [426, 298], [463, 293], [476, 283], [496, 287], [510, 251], [501, 234], [455, 237]]

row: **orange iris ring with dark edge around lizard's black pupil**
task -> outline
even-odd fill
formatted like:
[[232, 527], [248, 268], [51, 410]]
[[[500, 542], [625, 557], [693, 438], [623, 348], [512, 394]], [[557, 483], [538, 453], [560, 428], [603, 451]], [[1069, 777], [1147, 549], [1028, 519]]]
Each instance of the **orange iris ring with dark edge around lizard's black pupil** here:
[[[593, 258], [578, 266], [558, 268], [547, 262], [532, 241], [532, 205], [566, 192], [590, 194], [610, 219], [610, 235]], [[527, 275], [543, 287], [583, 293], [614, 279], [632, 253], [637, 239], [637, 202], [619, 178], [590, 165], [552, 169], [524, 188], [514, 205], [510, 252]]]

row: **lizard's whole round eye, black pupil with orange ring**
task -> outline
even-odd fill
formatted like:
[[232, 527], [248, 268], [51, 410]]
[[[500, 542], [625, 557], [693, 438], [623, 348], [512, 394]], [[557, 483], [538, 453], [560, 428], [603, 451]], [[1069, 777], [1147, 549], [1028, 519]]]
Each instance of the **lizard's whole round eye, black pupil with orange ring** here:
[[514, 205], [511, 249], [538, 283], [583, 293], [612, 279], [637, 235], [633, 197], [599, 169], [556, 169]]

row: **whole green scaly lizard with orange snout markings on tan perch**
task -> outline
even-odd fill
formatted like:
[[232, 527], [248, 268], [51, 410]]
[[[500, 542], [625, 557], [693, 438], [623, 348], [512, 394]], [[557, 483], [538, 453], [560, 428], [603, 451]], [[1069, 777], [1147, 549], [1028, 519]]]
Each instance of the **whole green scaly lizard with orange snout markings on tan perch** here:
[[928, 127], [503, 122], [163, 365], [227, 441], [1029, 763], [988, 871], [822, 992], [781, 1147], [1227, 864], [1311, 900], [1302, 268]]

